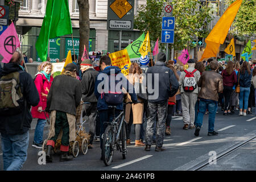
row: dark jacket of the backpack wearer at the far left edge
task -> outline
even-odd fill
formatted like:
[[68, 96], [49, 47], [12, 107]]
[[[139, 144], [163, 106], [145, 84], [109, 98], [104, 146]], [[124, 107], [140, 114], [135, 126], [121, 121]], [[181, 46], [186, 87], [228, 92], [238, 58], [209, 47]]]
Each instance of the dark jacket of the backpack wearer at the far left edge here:
[[[23, 87], [23, 97], [26, 99], [26, 105], [23, 103], [22, 113], [1, 116], [0, 115], [0, 132], [7, 135], [23, 134], [30, 129], [32, 115], [30, 112], [31, 105], [36, 106], [39, 103], [39, 94], [34, 81], [30, 74], [22, 71], [18, 64], [8, 63], [3, 66], [0, 77], [8, 75], [9, 73], [21, 71], [19, 74], [20, 85]], [[23, 119], [24, 118], [24, 119]]]

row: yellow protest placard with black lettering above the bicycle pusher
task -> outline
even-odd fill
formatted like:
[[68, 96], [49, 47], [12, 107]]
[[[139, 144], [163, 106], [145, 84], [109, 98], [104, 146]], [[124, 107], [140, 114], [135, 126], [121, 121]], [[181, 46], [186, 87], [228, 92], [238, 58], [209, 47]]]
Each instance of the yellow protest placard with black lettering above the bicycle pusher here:
[[113, 66], [120, 68], [123, 75], [128, 75], [131, 61], [127, 49], [110, 53], [109, 57]]

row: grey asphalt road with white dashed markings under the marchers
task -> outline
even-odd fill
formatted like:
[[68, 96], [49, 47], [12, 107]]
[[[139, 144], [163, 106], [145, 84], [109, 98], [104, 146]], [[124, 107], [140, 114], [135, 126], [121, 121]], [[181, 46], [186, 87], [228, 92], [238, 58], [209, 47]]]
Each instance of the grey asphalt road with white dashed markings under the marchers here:
[[[253, 110], [254, 113], [254, 110]], [[32, 147], [34, 128], [36, 120], [31, 124], [30, 144], [28, 147], [27, 161], [24, 163], [23, 171], [187, 171], [210, 159], [212, 154], [221, 154], [228, 148], [255, 136], [256, 117], [246, 117], [236, 114], [224, 116], [218, 108], [216, 114], [215, 130], [217, 136], [208, 136], [208, 114], [204, 116], [203, 127], [199, 137], [193, 133], [195, 129], [183, 130], [182, 117], [173, 117], [171, 122], [170, 136], [165, 136], [163, 147], [165, 151], [155, 152], [155, 146], [151, 151], [144, 151], [144, 147], [135, 147], [134, 142], [128, 146], [127, 158], [122, 159], [119, 151], [114, 153], [114, 159], [110, 166], [106, 167], [100, 160], [100, 142], [94, 142], [94, 148], [88, 149], [86, 155], [81, 153], [77, 158], [69, 162], [59, 162], [59, 156], [53, 156], [53, 163], [46, 165], [38, 164], [38, 148]], [[88, 127], [86, 127], [87, 130]], [[131, 141], [135, 139], [134, 127], [131, 130]], [[146, 125], [144, 126], [146, 128]], [[47, 137], [48, 127], [44, 130], [44, 138]], [[256, 140], [251, 140], [245, 146], [232, 152], [216, 164], [209, 165], [203, 170], [230, 171], [230, 170], [256, 170]], [[0, 157], [2, 150], [0, 148]], [[3, 163], [0, 160], [0, 170]]]

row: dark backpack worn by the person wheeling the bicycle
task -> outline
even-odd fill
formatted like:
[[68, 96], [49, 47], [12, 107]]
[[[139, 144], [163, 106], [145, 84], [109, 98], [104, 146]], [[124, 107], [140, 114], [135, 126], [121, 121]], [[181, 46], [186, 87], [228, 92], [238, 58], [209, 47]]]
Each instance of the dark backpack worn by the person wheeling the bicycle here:
[[[115, 74], [116, 76], [116, 74]], [[116, 92], [116, 90], [110, 90], [110, 75], [108, 75], [109, 77], [109, 84], [105, 85], [105, 86], [109, 86], [109, 92], [108, 93], [103, 93], [104, 94], [104, 98], [107, 104], [110, 105], [118, 105], [118, 104], [122, 104], [123, 103], [123, 92], [122, 92], [122, 88], [121, 88], [121, 92]], [[117, 88], [117, 85], [122, 85], [119, 82], [122, 82], [122, 80], [115, 80], [115, 87]]]

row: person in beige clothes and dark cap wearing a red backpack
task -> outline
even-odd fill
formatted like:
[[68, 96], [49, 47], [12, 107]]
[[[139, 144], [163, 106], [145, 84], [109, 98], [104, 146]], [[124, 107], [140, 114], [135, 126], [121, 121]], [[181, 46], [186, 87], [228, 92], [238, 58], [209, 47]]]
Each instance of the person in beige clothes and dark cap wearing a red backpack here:
[[183, 130], [193, 129], [195, 122], [195, 105], [199, 89], [197, 82], [200, 72], [195, 69], [195, 60], [188, 60], [188, 69], [181, 72], [179, 78], [181, 105], [183, 114]]

